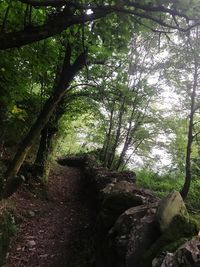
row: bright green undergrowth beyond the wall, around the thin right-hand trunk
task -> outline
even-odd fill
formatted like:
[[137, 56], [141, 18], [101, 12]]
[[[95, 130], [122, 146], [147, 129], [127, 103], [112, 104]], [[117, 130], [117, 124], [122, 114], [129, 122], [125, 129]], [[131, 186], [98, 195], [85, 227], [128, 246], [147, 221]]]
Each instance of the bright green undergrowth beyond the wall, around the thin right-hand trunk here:
[[[159, 175], [149, 170], [140, 170], [137, 172], [137, 183], [141, 187], [152, 190], [155, 195], [162, 198], [172, 190], [180, 191], [184, 178], [180, 174], [162, 174]], [[188, 210], [200, 214], [200, 178], [191, 182], [190, 191], [186, 199]]]

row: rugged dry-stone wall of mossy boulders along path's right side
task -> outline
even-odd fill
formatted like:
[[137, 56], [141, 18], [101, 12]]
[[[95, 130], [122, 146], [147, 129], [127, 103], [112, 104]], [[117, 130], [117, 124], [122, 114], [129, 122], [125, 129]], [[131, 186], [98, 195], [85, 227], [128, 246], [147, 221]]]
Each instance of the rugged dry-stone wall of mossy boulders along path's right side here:
[[93, 192], [98, 210], [93, 266], [200, 266], [198, 229], [179, 192], [160, 200], [137, 186], [134, 172], [95, 167], [87, 156], [59, 163], [83, 168]]

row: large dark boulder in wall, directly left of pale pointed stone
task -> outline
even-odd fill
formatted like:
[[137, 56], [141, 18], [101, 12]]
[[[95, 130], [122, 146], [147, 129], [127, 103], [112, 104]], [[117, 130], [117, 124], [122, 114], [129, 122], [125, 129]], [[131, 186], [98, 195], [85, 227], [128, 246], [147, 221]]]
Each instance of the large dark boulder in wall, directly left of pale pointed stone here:
[[157, 203], [126, 210], [109, 231], [113, 251], [110, 266], [139, 266], [142, 255], [158, 238], [155, 221]]

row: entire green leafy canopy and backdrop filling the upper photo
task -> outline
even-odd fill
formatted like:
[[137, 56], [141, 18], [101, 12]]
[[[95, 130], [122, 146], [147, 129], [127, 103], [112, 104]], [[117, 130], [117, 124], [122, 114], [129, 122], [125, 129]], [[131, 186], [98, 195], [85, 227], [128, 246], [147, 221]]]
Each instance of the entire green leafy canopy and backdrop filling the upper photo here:
[[[128, 1], [124, 5], [82, 1], [62, 6], [59, 1], [53, 6], [40, 1], [4, 1], [0, 7], [1, 48], [20, 48], [0, 52], [1, 156], [12, 156], [40, 118], [47, 100], [56, 95], [61, 62], [70, 47], [71, 65], [83, 52], [87, 52], [87, 61], [67, 84], [64, 107], [58, 105], [60, 100], [55, 102], [54, 114], [41, 126], [58, 129], [49, 137], [54, 140], [48, 140], [52, 145], [45, 153], [101, 148], [104, 166], [121, 170], [137, 157], [151, 157], [153, 149], [163, 146], [171, 153], [173, 169], [182, 172], [186, 149], [183, 115], [187, 116], [190, 95], [185, 89], [192, 84], [191, 51], [184, 31], [199, 23], [195, 20], [198, 8], [196, 0]], [[182, 33], [177, 36], [169, 29]], [[198, 54], [198, 42], [192, 42]], [[180, 95], [184, 104], [180, 116], [160, 112], [160, 80]], [[171, 131], [170, 141], [157, 141], [165, 131]], [[37, 135], [31, 138], [34, 144], [29, 140], [27, 145], [34, 146], [33, 155], [42, 139]], [[197, 143], [192, 154], [196, 177]]]

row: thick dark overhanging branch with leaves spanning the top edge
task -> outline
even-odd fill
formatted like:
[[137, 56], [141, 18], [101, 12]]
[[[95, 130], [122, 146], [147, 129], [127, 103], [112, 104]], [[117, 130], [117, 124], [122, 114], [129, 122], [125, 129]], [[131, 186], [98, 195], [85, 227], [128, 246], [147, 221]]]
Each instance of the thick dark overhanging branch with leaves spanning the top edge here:
[[[60, 34], [70, 26], [83, 25], [113, 13], [127, 14], [130, 19], [147, 28], [154, 27], [149, 24], [152, 22], [159, 24], [164, 32], [168, 31], [169, 28], [188, 31], [199, 24], [198, 15], [194, 12], [197, 5], [197, 1], [180, 4], [174, 3], [174, 1], [155, 0], [150, 3], [124, 1], [122, 4], [117, 1], [112, 3], [99, 1], [98, 4], [95, 1], [87, 1], [84, 4], [66, 0], [19, 0], [16, 3], [13, 1], [7, 5], [6, 12], [4, 12], [6, 8], [4, 4], [3, 12], [1, 12], [3, 26], [0, 49], [20, 47], [43, 40]], [[28, 10], [25, 12], [23, 24], [18, 20], [16, 23], [18, 29], [16, 30], [15, 27], [14, 31], [12, 23], [16, 22], [16, 17], [13, 14], [13, 9], [15, 9], [15, 13], [19, 9]], [[193, 11], [194, 17], [191, 16], [191, 11]], [[16, 15], [18, 16], [18, 14]]]

